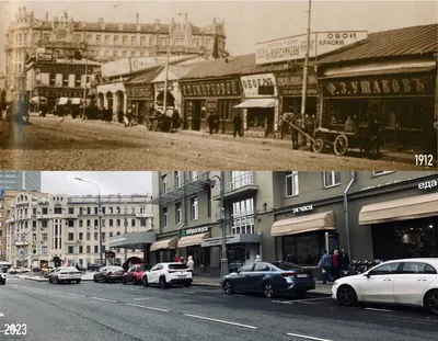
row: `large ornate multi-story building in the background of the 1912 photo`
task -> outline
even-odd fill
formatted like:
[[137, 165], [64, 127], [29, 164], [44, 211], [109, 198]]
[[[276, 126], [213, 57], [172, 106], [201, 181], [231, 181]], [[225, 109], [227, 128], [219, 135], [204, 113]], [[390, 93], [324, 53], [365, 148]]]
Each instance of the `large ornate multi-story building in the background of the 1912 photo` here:
[[34, 12], [20, 8], [10, 24], [5, 52], [7, 89], [12, 86], [20, 91], [25, 84], [23, 71], [26, 59], [43, 52], [53, 58], [73, 56], [78, 49], [96, 61], [108, 61], [126, 57], [148, 57], [165, 55], [168, 46], [172, 54], [204, 54], [226, 56], [224, 23], [214, 19], [211, 25], [195, 26], [185, 15], [180, 22], [170, 24], [141, 24], [139, 15], [135, 23], [106, 23], [73, 21], [67, 12], [49, 20], [36, 19]]

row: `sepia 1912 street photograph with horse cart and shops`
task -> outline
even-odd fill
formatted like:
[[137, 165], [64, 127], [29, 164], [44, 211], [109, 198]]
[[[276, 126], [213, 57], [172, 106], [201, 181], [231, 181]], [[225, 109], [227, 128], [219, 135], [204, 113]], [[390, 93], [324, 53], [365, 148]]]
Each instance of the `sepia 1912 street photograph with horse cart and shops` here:
[[437, 168], [436, 1], [2, 1], [0, 168]]

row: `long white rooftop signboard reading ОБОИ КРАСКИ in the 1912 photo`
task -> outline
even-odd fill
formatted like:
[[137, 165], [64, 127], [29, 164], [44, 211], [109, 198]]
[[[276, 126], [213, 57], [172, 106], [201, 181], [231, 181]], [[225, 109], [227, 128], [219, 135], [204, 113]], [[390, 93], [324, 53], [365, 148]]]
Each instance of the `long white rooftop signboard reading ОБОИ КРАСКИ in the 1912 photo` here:
[[[357, 43], [368, 37], [367, 31], [315, 32], [310, 35], [309, 56], [315, 57], [337, 48]], [[307, 34], [257, 43], [255, 45], [255, 64], [304, 59], [307, 53]]]

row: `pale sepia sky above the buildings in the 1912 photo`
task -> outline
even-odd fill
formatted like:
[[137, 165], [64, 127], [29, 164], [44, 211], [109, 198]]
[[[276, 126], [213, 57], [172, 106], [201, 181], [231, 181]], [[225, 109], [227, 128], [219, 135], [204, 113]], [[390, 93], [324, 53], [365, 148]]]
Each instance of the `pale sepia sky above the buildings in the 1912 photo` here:
[[[178, 13], [187, 13], [194, 25], [212, 23], [212, 18], [224, 20], [227, 49], [231, 55], [254, 53], [257, 42], [306, 33], [307, 0], [292, 1], [18, 1], [0, 0], [0, 50], [10, 20], [19, 7], [34, 10], [35, 16], [49, 19], [61, 16], [67, 11], [77, 21], [162, 23], [175, 20]], [[377, 1], [377, 0], [313, 0], [312, 31], [368, 31], [437, 23], [438, 1]], [[1, 55], [2, 56], [2, 55]], [[0, 58], [0, 70], [4, 69], [4, 57]]]

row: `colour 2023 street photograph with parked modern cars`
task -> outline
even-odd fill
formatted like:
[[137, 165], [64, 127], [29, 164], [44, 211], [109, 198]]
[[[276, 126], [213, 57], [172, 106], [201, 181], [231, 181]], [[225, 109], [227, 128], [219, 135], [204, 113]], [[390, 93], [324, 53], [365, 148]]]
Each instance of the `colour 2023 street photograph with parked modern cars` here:
[[4, 340], [436, 340], [437, 181], [1, 171]]

